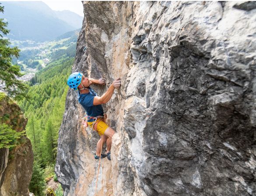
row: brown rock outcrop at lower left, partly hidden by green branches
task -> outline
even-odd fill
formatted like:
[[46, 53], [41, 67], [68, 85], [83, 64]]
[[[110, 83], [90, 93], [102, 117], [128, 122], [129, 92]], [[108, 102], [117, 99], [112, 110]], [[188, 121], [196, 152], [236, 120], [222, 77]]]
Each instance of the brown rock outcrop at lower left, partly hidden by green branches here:
[[[0, 101], [0, 117], [8, 114], [16, 132], [21, 132], [27, 125], [27, 118], [21, 113], [21, 109], [8, 98]], [[28, 186], [32, 177], [32, 165], [34, 161], [30, 140], [23, 136], [20, 144], [9, 149], [0, 149], [0, 196], [28, 196]]]

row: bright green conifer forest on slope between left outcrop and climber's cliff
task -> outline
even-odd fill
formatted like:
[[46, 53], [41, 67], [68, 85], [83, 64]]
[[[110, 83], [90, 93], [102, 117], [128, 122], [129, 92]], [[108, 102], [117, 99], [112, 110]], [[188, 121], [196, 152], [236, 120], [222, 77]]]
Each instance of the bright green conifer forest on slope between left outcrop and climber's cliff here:
[[[28, 118], [26, 132], [32, 142], [33, 151], [42, 166], [55, 163], [57, 140], [60, 124], [65, 111], [65, 100], [68, 90], [67, 78], [71, 73], [74, 58], [49, 64], [38, 71], [28, 93], [32, 98], [18, 102]], [[54, 168], [54, 167], [53, 167]]]

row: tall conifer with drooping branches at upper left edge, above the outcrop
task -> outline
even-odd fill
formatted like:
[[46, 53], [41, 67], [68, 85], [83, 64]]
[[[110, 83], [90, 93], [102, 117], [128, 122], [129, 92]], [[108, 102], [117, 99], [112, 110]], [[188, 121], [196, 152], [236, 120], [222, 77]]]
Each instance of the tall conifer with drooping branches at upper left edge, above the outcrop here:
[[[4, 13], [4, 7], [0, 6], [0, 12]], [[23, 81], [19, 81], [17, 77], [21, 77], [23, 74], [20, 73], [20, 66], [12, 64], [12, 58], [18, 58], [19, 49], [18, 47], [11, 48], [9, 45], [11, 42], [9, 39], [3, 39], [3, 35], [7, 35], [10, 30], [7, 30], [7, 22], [3, 22], [4, 19], [0, 19], [0, 81], [4, 82], [6, 87], [0, 88], [1, 91], [7, 92], [10, 97], [14, 100], [21, 100], [28, 98], [29, 95], [24, 91], [28, 89], [28, 85], [24, 84]]]

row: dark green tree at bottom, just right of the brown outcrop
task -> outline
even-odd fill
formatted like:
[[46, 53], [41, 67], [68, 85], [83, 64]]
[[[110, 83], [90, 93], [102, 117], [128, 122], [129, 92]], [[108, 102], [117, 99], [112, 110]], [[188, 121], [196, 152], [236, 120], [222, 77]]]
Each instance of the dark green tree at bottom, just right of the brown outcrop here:
[[33, 163], [32, 179], [29, 184], [29, 191], [34, 193], [35, 196], [43, 196], [45, 188], [44, 169], [42, 169], [37, 161]]

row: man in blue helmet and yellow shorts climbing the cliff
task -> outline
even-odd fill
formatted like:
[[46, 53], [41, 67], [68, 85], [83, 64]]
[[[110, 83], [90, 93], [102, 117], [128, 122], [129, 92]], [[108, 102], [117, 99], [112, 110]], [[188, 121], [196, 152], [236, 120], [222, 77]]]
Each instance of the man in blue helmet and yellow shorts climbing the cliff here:
[[[96, 121], [98, 122], [96, 131], [100, 135], [101, 139], [98, 141], [97, 144], [97, 151], [95, 155], [95, 159], [100, 158], [100, 152], [102, 145], [107, 142], [107, 149], [106, 149], [106, 155], [101, 154], [101, 158], [108, 157], [109, 160], [111, 160], [110, 157], [110, 149], [111, 149], [111, 143], [112, 143], [112, 137], [116, 133], [112, 128], [110, 128], [108, 125], [105, 124], [104, 121], [102, 121], [102, 118], [104, 116], [102, 104], [107, 103], [110, 98], [112, 97], [112, 94], [115, 90], [115, 88], [119, 88], [121, 85], [120, 78], [117, 78], [113, 83], [110, 85], [109, 89], [101, 96], [98, 97], [97, 93], [92, 90], [90, 87], [91, 84], [105, 84], [105, 80], [103, 78], [100, 78], [99, 80], [95, 80], [93, 78], [85, 78], [84, 75], [80, 72], [74, 72], [71, 74], [67, 80], [67, 84], [70, 86], [70, 88], [73, 88], [75, 91], [78, 89], [78, 101], [79, 103], [84, 107], [86, 114], [89, 118], [94, 117], [98, 118], [97, 121], [93, 118], [88, 118], [88, 125], [90, 127], [93, 126], [93, 123]], [[103, 139], [103, 142], [102, 142]]]

